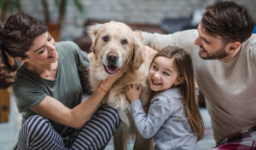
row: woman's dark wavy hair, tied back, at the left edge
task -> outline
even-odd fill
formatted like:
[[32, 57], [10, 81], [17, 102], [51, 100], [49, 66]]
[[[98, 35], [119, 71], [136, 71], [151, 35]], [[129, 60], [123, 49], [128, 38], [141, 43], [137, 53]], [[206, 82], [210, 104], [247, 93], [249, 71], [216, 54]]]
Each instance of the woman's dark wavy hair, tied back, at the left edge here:
[[14, 83], [14, 72], [19, 66], [15, 58], [26, 58], [33, 39], [47, 31], [43, 21], [24, 13], [12, 14], [0, 25], [0, 89]]

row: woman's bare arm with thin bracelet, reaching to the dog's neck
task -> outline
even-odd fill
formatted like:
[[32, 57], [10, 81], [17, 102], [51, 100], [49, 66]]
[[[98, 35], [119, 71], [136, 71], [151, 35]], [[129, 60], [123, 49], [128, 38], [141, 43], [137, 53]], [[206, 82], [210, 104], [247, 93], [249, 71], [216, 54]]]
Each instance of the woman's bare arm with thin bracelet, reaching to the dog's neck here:
[[101, 103], [113, 83], [122, 75], [123, 73], [120, 70], [116, 75], [105, 79], [86, 101], [73, 107], [73, 109], [64, 106], [60, 101], [55, 100], [51, 96], [46, 96], [38, 105], [32, 107], [32, 111], [60, 124], [80, 128], [95, 112], [96, 107]]

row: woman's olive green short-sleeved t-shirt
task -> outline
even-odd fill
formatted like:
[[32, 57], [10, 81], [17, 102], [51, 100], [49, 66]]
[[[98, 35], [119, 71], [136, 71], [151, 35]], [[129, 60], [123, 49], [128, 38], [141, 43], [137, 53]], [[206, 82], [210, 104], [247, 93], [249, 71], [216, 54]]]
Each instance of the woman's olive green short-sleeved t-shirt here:
[[[16, 106], [22, 114], [22, 123], [27, 118], [37, 114], [31, 108], [42, 101], [46, 95], [61, 101], [68, 108], [76, 107], [81, 102], [82, 85], [79, 71], [83, 71], [89, 66], [88, 57], [73, 42], [58, 42], [55, 43], [55, 48], [59, 55], [55, 80], [40, 78], [23, 66], [20, 66], [15, 73], [13, 93]], [[70, 136], [74, 131], [65, 125], [54, 121], [50, 122], [62, 137]]]

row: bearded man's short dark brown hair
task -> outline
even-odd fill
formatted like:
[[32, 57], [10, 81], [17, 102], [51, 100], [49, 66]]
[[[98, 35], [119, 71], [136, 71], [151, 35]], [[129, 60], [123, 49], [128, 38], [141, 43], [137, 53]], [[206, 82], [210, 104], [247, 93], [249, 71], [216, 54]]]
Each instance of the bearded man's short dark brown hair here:
[[253, 18], [245, 6], [232, 1], [214, 3], [206, 8], [201, 26], [225, 43], [243, 43], [253, 33]]

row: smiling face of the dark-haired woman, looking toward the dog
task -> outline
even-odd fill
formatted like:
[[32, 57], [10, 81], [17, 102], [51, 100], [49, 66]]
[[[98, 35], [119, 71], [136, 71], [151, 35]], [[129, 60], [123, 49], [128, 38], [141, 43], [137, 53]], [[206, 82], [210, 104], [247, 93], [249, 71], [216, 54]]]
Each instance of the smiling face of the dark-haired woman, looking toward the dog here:
[[55, 40], [49, 35], [49, 32], [39, 35], [33, 40], [26, 55], [28, 55], [27, 61], [38, 65], [48, 65], [57, 61]]

